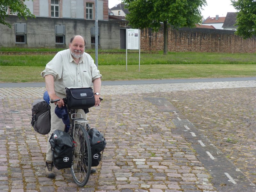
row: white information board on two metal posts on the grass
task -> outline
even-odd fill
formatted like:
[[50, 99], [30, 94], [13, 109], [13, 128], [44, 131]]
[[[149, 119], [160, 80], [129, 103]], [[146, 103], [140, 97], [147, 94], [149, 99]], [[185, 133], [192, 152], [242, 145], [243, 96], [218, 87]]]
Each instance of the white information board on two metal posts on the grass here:
[[126, 29], [126, 71], [127, 71], [127, 50], [139, 50], [139, 71], [140, 71], [140, 29]]

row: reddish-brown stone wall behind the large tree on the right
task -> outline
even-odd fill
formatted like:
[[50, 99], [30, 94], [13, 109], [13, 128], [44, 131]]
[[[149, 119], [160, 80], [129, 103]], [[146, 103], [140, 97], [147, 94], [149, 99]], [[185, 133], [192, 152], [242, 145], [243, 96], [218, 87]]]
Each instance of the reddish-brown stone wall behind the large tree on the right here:
[[[140, 31], [140, 48], [144, 51], [164, 49], [164, 31], [152, 32], [150, 29]], [[169, 28], [168, 51], [170, 52], [256, 52], [255, 37], [244, 40], [234, 35], [232, 30]]]

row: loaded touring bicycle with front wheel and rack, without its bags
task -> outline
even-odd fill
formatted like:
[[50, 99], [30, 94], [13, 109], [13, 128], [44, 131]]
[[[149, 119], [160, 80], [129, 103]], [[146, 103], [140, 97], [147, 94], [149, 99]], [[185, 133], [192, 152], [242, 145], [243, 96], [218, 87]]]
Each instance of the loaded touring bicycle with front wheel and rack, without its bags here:
[[[54, 103], [59, 100], [51, 100], [50, 102]], [[103, 99], [100, 98], [100, 100], [102, 101]], [[85, 120], [82, 114], [76, 112], [76, 109], [68, 110], [72, 120], [68, 133], [74, 144], [70, 171], [75, 183], [79, 187], [83, 187], [89, 180], [92, 166], [91, 145], [88, 135], [91, 127], [88, 124], [89, 121]], [[79, 115], [81, 118], [76, 118]]]

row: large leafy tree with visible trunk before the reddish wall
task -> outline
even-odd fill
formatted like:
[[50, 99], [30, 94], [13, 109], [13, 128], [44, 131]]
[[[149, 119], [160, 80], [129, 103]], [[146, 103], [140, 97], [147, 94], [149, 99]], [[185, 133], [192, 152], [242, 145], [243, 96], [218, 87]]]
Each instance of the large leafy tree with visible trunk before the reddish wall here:
[[195, 27], [201, 22], [200, 8], [206, 0], [123, 0], [129, 14], [126, 19], [133, 28], [158, 31], [164, 24], [164, 54], [167, 54], [168, 24], [174, 28]]

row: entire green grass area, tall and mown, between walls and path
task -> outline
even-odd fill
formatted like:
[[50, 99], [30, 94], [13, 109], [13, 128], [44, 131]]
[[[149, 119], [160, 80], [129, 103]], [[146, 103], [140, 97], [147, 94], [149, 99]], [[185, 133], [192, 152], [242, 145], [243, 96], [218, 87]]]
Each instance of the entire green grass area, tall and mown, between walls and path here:
[[[95, 59], [95, 54], [91, 53]], [[254, 53], [100, 53], [103, 81], [256, 76]], [[44, 82], [40, 73], [54, 54], [0, 55], [0, 82]]]

